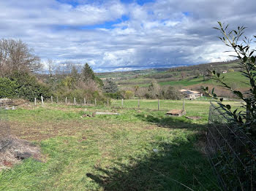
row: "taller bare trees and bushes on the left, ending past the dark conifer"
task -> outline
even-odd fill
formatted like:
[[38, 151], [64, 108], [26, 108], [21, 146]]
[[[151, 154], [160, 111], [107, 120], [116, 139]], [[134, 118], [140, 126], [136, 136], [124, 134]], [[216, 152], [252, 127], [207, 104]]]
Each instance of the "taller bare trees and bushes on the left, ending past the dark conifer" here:
[[[21, 40], [0, 39], [0, 98], [84, 98], [104, 101], [101, 79], [88, 63], [83, 67], [66, 62], [56, 65], [48, 59], [48, 74], [42, 74], [42, 62], [34, 50]], [[63, 67], [64, 66], [64, 67]]]

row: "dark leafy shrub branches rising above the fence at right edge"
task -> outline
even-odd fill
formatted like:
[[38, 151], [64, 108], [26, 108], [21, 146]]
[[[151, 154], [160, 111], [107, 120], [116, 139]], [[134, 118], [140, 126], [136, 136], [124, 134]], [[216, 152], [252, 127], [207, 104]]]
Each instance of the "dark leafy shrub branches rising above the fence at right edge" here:
[[[246, 133], [256, 137], [256, 56], [254, 55], [255, 50], [251, 49], [252, 39], [248, 39], [244, 36], [244, 30], [246, 27], [241, 26], [237, 28], [237, 30], [228, 30], [228, 25], [224, 26], [221, 22], [219, 23], [219, 27], [214, 27], [218, 31], [220, 31], [221, 36], [218, 36], [219, 39], [222, 40], [227, 47], [230, 47], [232, 50], [225, 52], [234, 52], [235, 55], [230, 55], [238, 58], [240, 61], [238, 63], [239, 71], [244, 77], [246, 77], [246, 84], [249, 85], [249, 90], [245, 93], [242, 93], [239, 90], [234, 90], [230, 85], [225, 81], [225, 77], [222, 77], [221, 74], [216, 71], [210, 71], [211, 78], [215, 79], [222, 87], [225, 87], [227, 90], [230, 90], [233, 94], [237, 95], [244, 103], [241, 104], [241, 108], [245, 108], [246, 112], [238, 112], [238, 109], [234, 111], [231, 109], [229, 104], [223, 104], [223, 98], [219, 98], [216, 93], [214, 93], [214, 88], [211, 93], [208, 91], [208, 87], [202, 87], [205, 93], [212, 98], [216, 99], [219, 106], [225, 110], [227, 114], [233, 117], [233, 120], [237, 122], [241, 127], [244, 127]], [[256, 39], [256, 36], [254, 36]], [[255, 41], [254, 41], [255, 42]], [[240, 43], [240, 44], [239, 44]]]

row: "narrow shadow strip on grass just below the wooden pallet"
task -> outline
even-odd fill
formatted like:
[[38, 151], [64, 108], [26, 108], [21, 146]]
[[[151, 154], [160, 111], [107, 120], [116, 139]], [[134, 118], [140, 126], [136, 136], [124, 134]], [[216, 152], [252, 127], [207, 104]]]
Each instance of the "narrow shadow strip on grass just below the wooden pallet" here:
[[203, 128], [206, 127], [206, 124], [197, 124], [192, 122], [192, 120], [188, 120], [185, 117], [170, 117], [170, 116], [160, 116], [155, 117], [153, 115], [146, 114], [137, 114], [138, 117], [142, 121], [151, 122], [161, 128]]

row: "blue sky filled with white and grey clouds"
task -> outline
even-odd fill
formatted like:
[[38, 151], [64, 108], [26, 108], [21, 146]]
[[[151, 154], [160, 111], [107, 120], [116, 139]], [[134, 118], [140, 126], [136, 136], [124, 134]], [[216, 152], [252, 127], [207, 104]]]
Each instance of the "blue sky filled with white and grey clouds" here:
[[217, 21], [256, 34], [255, 0], [0, 0], [0, 37], [46, 61], [126, 71], [227, 61]]

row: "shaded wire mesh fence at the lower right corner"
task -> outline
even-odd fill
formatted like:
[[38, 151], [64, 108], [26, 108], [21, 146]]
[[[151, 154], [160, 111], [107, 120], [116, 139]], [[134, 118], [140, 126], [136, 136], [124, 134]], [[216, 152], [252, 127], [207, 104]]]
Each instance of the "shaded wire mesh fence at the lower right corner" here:
[[206, 151], [222, 190], [256, 190], [256, 144], [211, 103]]

